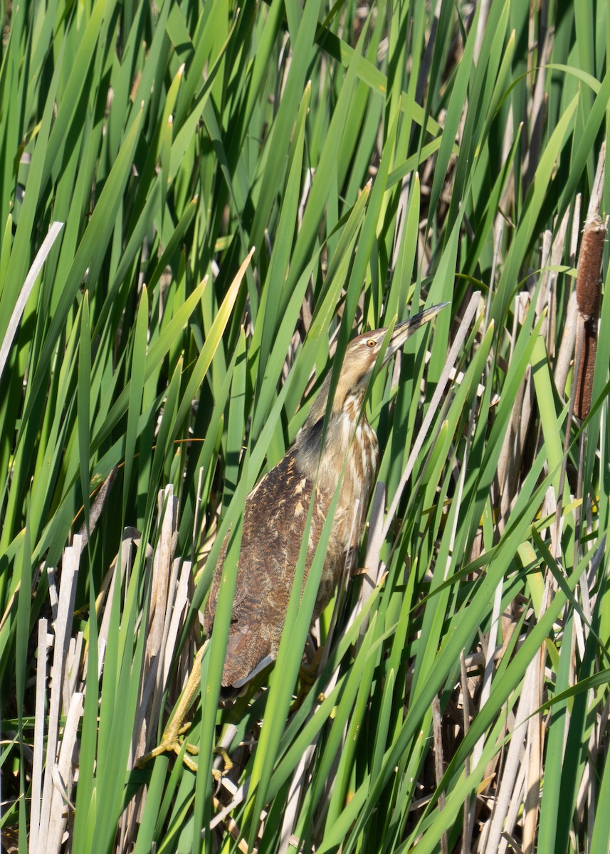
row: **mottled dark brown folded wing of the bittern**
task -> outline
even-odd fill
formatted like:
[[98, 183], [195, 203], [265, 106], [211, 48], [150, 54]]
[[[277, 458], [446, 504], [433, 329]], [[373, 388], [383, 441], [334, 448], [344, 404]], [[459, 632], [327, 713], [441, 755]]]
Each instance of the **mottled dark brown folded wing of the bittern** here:
[[[294, 453], [288, 453], [246, 500], [223, 685], [245, 681], [258, 665], [277, 656], [311, 493], [312, 483], [299, 473]], [[318, 541], [323, 521], [320, 508], [310, 541]], [[223, 547], [205, 609], [207, 635], [214, 624], [225, 556]], [[306, 570], [310, 560], [308, 556]]]

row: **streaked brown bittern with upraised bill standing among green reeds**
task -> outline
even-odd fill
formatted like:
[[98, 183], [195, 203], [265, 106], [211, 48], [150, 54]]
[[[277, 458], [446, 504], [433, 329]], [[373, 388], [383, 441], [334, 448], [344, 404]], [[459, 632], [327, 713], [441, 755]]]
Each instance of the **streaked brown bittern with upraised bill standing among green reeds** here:
[[[397, 323], [387, 340], [382, 364], [447, 305], [431, 306]], [[321, 384], [295, 442], [246, 498], [223, 687], [243, 687], [277, 658], [310, 502], [313, 500], [303, 588], [337, 488], [312, 622], [331, 601], [343, 572], [355, 564], [379, 465], [378, 438], [362, 404], [388, 332], [386, 328], [364, 332], [349, 342], [328, 417], [332, 371]], [[208, 637], [214, 628], [227, 542], [228, 535], [205, 605], [203, 630]]]

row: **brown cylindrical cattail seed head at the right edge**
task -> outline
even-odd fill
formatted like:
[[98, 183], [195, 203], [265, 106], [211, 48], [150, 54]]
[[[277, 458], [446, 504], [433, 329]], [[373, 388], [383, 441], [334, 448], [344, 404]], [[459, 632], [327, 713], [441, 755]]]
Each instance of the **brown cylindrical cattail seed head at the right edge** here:
[[576, 377], [576, 401], [574, 412], [578, 418], [586, 418], [591, 407], [593, 372], [597, 353], [597, 319], [601, 301], [601, 256], [604, 251], [606, 226], [595, 213], [584, 225], [583, 241], [578, 256], [576, 298], [578, 313], [583, 319], [579, 325], [577, 348], [582, 347], [582, 358]]

